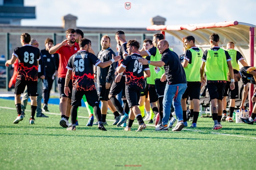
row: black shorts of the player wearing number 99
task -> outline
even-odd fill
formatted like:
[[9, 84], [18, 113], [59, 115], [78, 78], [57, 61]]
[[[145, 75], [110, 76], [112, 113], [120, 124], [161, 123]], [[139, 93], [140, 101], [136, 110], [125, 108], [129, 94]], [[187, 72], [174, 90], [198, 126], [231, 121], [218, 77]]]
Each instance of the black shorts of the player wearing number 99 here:
[[140, 93], [142, 89], [137, 85], [126, 85], [125, 86], [125, 96], [129, 108], [133, 106], [139, 106]]

